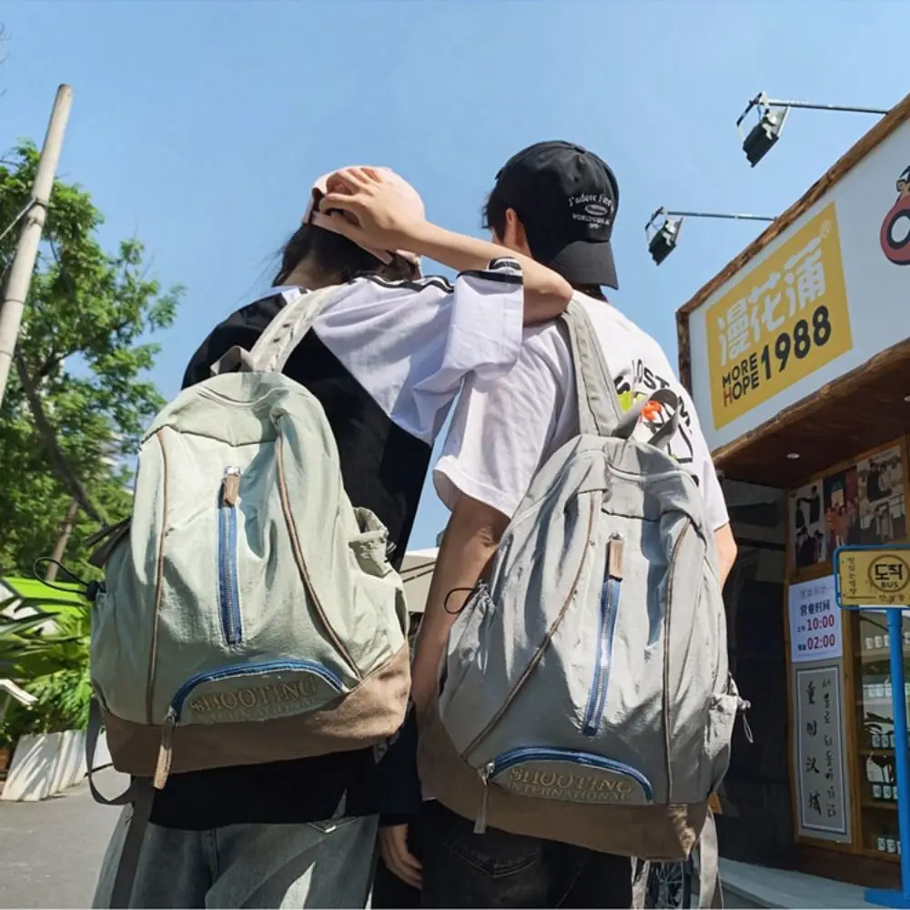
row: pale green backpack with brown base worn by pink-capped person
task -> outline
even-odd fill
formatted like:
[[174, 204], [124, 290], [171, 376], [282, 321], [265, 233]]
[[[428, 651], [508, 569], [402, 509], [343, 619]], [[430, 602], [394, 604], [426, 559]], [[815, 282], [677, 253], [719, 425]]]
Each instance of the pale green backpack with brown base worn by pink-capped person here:
[[116, 803], [148, 803], [143, 781], [169, 773], [359, 749], [403, 723], [409, 617], [387, 531], [351, 506], [325, 412], [281, 372], [335, 291], [300, 294], [147, 430], [132, 517], [95, 559], [89, 767], [103, 723], [139, 779]]

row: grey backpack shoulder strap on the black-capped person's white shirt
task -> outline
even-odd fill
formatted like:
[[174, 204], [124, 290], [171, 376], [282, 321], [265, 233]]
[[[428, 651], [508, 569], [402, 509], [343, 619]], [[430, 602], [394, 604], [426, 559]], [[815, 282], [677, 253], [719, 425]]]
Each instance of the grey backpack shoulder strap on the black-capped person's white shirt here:
[[569, 332], [575, 368], [579, 430], [582, 435], [612, 436], [622, 420], [622, 407], [591, 320], [584, 306], [573, 299], [562, 322]]

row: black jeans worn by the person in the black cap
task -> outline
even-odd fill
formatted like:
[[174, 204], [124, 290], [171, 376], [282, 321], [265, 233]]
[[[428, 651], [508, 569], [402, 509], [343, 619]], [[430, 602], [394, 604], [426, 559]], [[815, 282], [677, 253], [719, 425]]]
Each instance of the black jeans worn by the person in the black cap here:
[[629, 907], [632, 860], [474, 825], [439, 803], [421, 819], [425, 907]]

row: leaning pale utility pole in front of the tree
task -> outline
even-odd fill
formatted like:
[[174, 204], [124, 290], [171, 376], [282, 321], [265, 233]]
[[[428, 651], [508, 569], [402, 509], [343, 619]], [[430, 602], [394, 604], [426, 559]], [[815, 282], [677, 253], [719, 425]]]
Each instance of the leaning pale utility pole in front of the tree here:
[[35, 173], [30, 207], [25, 215], [19, 244], [15, 248], [9, 278], [6, 280], [3, 308], [0, 309], [0, 406], [3, 405], [6, 381], [9, 379], [9, 371], [13, 364], [25, 298], [28, 297], [28, 287], [32, 282], [32, 271], [35, 268], [38, 245], [41, 243], [41, 231], [45, 227], [47, 205], [50, 202], [51, 190], [54, 188], [54, 175], [57, 162], [60, 160], [63, 135], [72, 104], [73, 89], [66, 85], [60, 86], [57, 89], [50, 122], [47, 124], [45, 144], [41, 149], [41, 158]]

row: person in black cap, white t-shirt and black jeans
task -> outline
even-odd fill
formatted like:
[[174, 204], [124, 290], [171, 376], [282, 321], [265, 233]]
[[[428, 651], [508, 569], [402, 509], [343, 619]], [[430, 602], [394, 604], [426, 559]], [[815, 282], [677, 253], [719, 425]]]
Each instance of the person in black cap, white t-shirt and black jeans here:
[[[662, 387], [680, 397], [681, 420], [670, 450], [703, 491], [723, 581], [736, 546], [692, 399], [657, 342], [612, 307], [602, 290], [618, 287], [611, 245], [618, 206], [616, 177], [600, 157], [568, 142], [542, 142], [501, 169], [485, 218], [497, 242], [569, 281], [591, 319], [623, 408]], [[434, 470], [451, 518], [412, 666], [418, 713], [433, 702], [440, 658], [461, 602], [479, 581], [534, 475], [577, 434], [574, 402], [571, 353], [555, 323], [525, 330], [521, 355], [508, 373], [466, 383]], [[420, 860], [400, 826], [383, 829], [380, 843], [389, 869], [420, 884], [424, 906], [631, 904], [627, 857], [496, 829], [474, 834], [472, 820], [436, 801], [424, 803], [419, 826]]]

